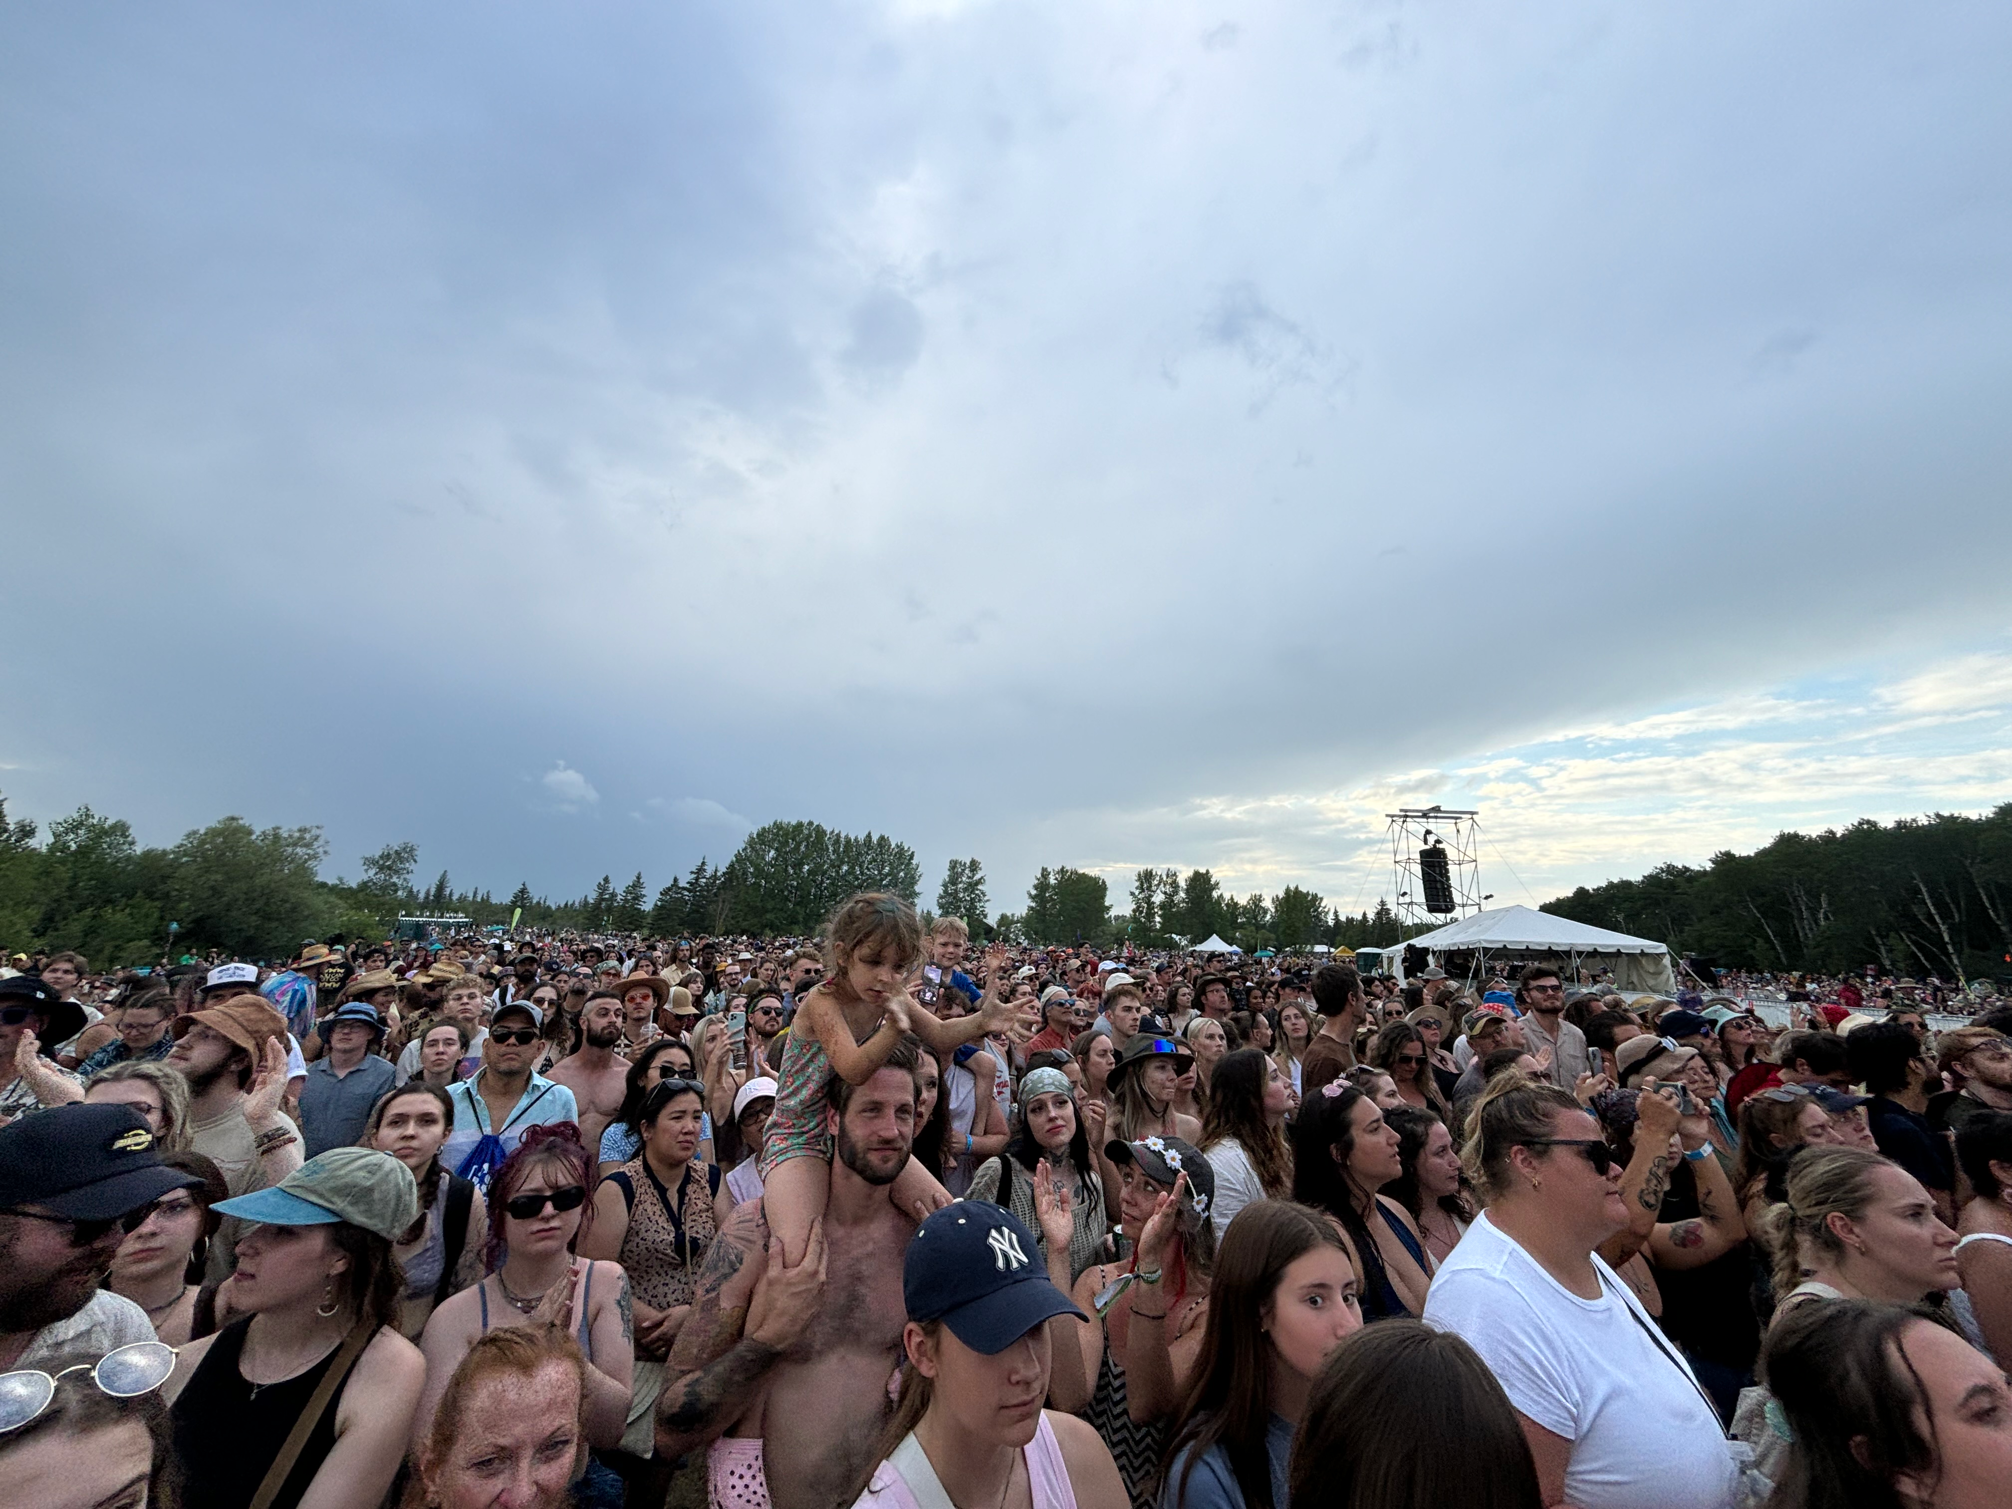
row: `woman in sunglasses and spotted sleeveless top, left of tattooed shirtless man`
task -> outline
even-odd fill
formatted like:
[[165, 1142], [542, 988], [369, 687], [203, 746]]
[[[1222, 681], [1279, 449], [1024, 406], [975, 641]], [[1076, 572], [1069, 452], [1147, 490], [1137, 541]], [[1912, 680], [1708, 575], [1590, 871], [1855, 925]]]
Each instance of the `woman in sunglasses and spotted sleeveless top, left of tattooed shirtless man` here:
[[734, 1207], [718, 1167], [698, 1159], [702, 1103], [704, 1086], [692, 1078], [650, 1091], [638, 1119], [642, 1147], [602, 1179], [594, 1225], [579, 1241], [581, 1253], [620, 1262], [634, 1290], [636, 1366], [622, 1449], [638, 1459], [654, 1449], [664, 1358], [692, 1312], [698, 1266]]

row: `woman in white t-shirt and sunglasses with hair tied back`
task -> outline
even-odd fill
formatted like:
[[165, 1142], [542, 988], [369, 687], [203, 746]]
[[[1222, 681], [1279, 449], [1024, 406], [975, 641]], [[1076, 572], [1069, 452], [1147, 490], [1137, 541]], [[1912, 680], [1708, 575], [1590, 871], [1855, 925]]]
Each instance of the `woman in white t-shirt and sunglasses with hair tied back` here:
[[1424, 1320], [1501, 1380], [1545, 1505], [1728, 1509], [1740, 1475], [1716, 1410], [1594, 1251], [1628, 1223], [1600, 1123], [1509, 1072], [1473, 1127], [1467, 1167], [1487, 1209], [1435, 1276]]

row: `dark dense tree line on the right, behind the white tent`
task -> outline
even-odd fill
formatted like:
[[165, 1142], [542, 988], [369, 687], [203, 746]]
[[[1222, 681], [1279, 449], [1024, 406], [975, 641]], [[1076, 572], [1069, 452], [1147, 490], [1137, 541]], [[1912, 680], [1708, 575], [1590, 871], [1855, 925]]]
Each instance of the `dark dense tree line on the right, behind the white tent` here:
[[1823, 833], [1581, 885], [1545, 911], [1746, 970], [2012, 978], [2012, 803]]

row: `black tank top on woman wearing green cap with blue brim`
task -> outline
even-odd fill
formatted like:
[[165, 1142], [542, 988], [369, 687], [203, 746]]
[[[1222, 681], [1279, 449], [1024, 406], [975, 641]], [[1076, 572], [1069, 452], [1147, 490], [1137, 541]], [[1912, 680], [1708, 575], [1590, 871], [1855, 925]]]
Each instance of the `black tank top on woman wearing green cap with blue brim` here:
[[[183, 1386], [169, 1418], [175, 1431], [175, 1457], [185, 1473], [185, 1499], [203, 1509], [247, 1509], [266, 1471], [286, 1445], [294, 1420], [308, 1408], [314, 1390], [336, 1360], [340, 1342], [328, 1356], [302, 1374], [276, 1384], [254, 1384], [237, 1370], [252, 1316], [233, 1320]], [[350, 1376], [356, 1376], [354, 1372]], [[336, 1410], [342, 1406], [344, 1378], [308, 1445], [302, 1447], [294, 1471], [286, 1475], [272, 1509], [294, 1509], [322, 1471], [322, 1461], [336, 1445]]]

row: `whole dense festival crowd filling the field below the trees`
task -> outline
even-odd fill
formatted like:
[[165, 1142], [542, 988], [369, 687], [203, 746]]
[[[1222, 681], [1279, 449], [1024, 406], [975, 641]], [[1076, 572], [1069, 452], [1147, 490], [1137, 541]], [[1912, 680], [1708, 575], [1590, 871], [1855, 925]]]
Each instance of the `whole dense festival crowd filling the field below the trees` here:
[[[1702, 984], [1702, 982], [1700, 982]], [[0, 978], [0, 1499], [1972, 1509], [2012, 1008], [318, 940]]]

